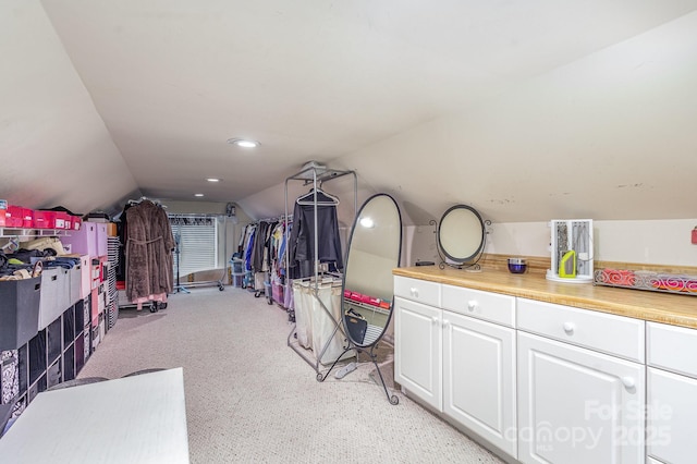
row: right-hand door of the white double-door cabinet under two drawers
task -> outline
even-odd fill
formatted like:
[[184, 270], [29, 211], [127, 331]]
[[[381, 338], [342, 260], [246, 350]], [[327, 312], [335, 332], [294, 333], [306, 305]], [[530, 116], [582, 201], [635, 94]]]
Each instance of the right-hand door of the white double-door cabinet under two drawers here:
[[517, 456], [515, 330], [443, 312], [443, 411]]

